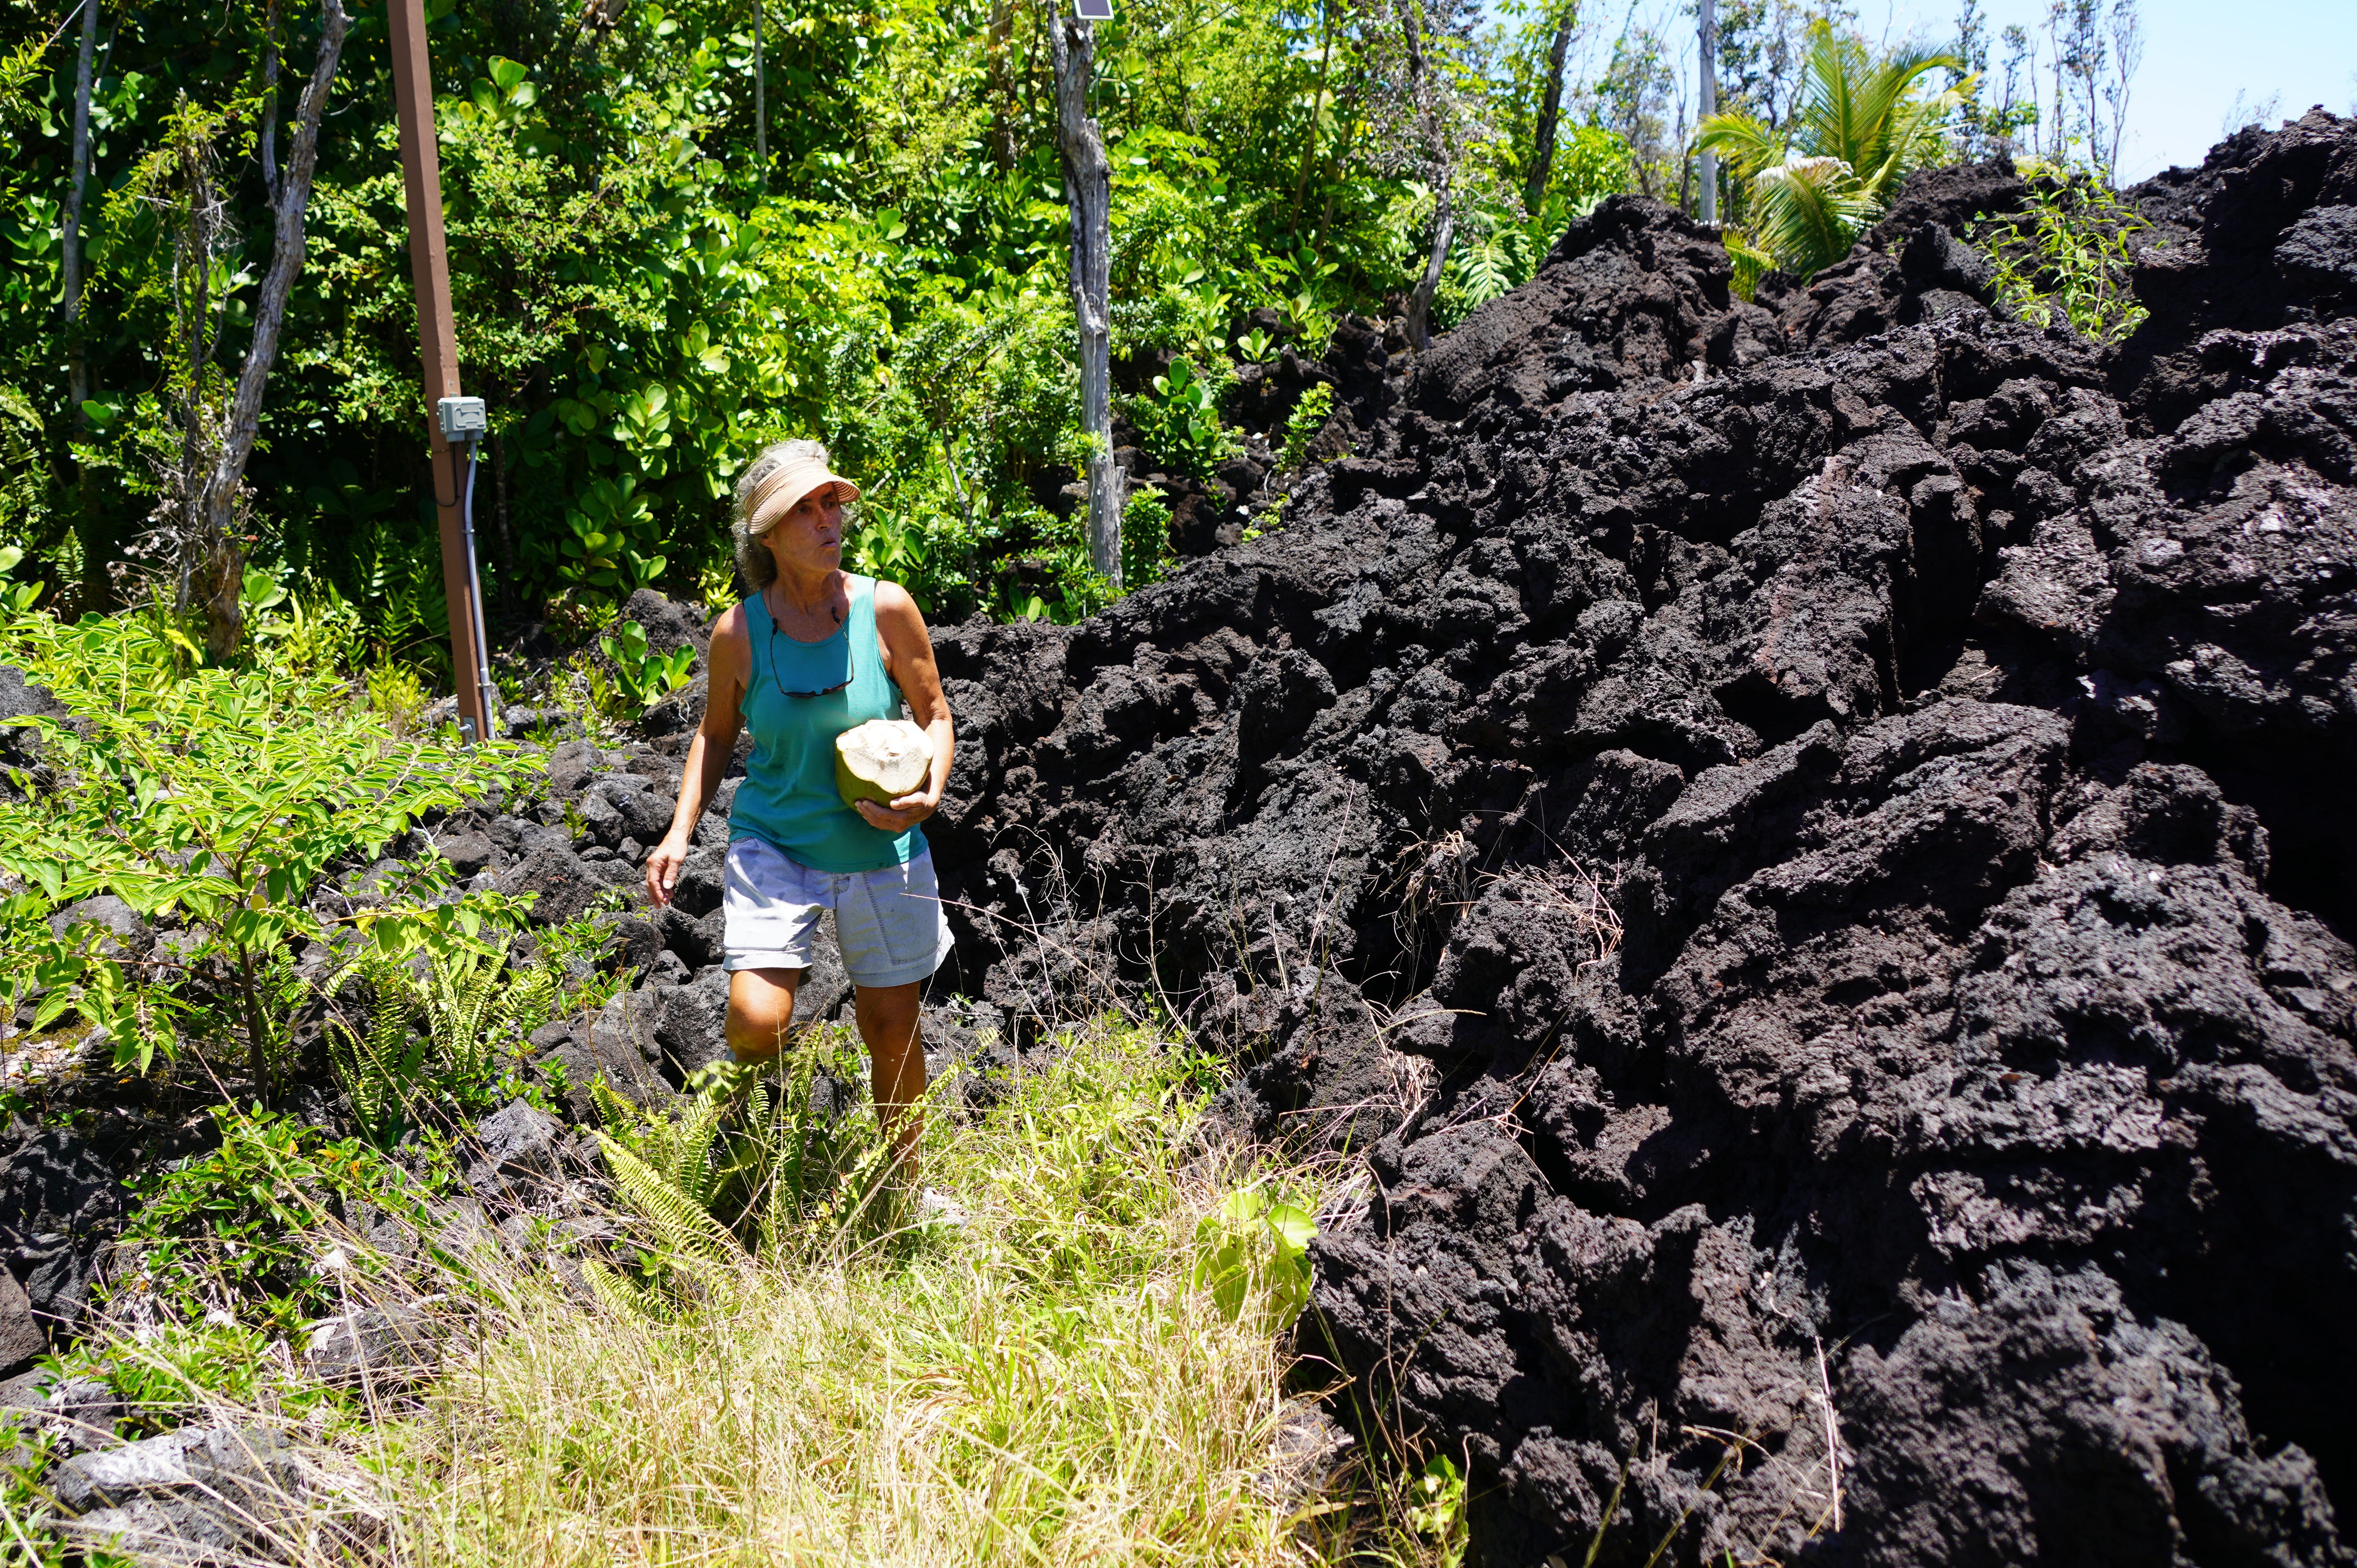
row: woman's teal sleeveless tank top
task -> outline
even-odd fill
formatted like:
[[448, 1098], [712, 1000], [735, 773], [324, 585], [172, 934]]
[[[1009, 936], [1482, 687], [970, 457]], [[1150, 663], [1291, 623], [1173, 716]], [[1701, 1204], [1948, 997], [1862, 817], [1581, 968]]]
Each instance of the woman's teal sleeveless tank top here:
[[877, 580], [844, 573], [844, 582], [851, 613], [825, 641], [794, 641], [771, 620], [761, 594], [745, 601], [752, 670], [740, 712], [752, 731], [752, 762], [728, 809], [731, 839], [761, 839], [825, 872], [882, 870], [924, 854], [922, 828], [870, 828], [834, 790], [834, 738], [867, 719], [900, 717], [900, 689], [884, 674], [877, 648]]

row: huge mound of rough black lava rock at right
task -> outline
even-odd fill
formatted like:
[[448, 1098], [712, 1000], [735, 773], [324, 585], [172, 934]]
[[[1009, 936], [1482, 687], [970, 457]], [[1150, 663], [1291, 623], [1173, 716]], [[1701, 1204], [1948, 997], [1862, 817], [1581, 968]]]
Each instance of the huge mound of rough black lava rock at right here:
[[1615, 198], [1280, 531], [940, 637], [959, 983], [1369, 1155], [1301, 1332], [1483, 1563], [2350, 1561], [2357, 123], [2131, 191], [2119, 349], [2020, 189], [1751, 304]]

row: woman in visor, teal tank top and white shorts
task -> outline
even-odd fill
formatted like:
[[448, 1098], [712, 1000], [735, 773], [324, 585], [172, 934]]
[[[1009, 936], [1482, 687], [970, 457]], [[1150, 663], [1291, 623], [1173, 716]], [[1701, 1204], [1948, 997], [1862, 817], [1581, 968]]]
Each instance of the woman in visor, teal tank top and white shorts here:
[[[688, 743], [672, 830], [646, 858], [646, 894], [658, 905], [672, 901], [688, 835], [750, 726], [721, 901], [728, 1049], [738, 1061], [778, 1054], [818, 913], [834, 910], [877, 1115], [912, 1181], [924, 1132], [912, 1108], [924, 1094], [917, 995], [950, 955], [919, 823], [950, 783], [955, 729], [917, 601], [898, 582], [841, 568], [844, 502], [858, 495], [827, 469], [818, 441], [780, 441], [738, 479], [735, 564], [754, 592], [712, 622], [705, 717]], [[867, 719], [898, 719], [903, 698], [933, 743], [933, 771], [924, 790], [891, 806], [863, 799], [853, 811], [834, 788], [834, 738]]]

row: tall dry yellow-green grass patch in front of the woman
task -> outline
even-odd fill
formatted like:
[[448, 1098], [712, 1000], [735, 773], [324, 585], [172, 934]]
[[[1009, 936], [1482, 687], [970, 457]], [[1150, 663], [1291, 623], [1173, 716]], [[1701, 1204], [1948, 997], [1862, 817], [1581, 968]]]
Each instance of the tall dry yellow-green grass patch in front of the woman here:
[[1190, 1068], [1077, 1033], [976, 1122], [933, 1115], [964, 1228], [709, 1273], [667, 1311], [516, 1280], [420, 1412], [377, 1427], [396, 1554], [483, 1563], [1303, 1563], [1351, 1509], [1275, 1474], [1270, 1292], [1200, 1276], [1240, 1181]]

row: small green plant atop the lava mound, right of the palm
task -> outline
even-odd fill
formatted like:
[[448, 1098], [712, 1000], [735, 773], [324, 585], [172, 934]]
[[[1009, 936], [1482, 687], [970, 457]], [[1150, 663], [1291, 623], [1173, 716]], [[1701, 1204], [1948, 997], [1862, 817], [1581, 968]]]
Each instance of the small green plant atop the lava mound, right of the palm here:
[[2069, 325], [2119, 342], [2147, 311], [2128, 276], [2128, 238], [2150, 229], [2095, 179], [2032, 179], [2022, 217], [1973, 224], [1973, 243], [1996, 262], [1996, 302], [2034, 328]]

